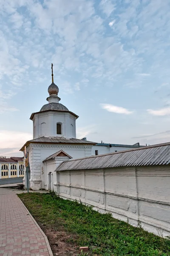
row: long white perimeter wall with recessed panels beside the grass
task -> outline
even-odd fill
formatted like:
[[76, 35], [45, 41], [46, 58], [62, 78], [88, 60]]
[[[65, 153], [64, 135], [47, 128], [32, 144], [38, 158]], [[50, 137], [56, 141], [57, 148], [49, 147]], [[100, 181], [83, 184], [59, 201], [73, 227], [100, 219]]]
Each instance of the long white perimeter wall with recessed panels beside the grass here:
[[53, 175], [54, 191], [114, 218], [170, 236], [170, 168], [125, 167], [61, 171]]

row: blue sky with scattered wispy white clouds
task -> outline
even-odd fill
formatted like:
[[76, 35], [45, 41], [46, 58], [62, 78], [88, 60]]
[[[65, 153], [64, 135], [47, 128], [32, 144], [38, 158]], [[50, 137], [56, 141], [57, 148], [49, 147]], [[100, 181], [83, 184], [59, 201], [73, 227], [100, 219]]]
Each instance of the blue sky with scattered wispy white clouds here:
[[51, 63], [77, 138], [170, 141], [169, 0], [0, 0], [0, 155], [32, 139]]

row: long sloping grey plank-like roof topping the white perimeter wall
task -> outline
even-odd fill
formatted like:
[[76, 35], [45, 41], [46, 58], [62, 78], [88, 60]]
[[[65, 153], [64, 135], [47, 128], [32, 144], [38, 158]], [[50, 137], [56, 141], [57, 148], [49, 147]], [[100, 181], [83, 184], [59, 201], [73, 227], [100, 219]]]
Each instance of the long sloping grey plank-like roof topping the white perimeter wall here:
[[170, 164], [170, 143], [164, 143], [65, 161], [59, 165], [57, 171], [168, 164]]

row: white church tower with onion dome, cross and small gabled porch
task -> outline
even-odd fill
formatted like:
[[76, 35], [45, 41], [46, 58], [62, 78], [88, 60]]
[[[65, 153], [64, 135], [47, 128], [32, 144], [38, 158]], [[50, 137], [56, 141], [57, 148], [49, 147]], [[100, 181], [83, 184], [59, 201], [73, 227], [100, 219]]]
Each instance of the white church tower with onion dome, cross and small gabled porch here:
[[[91, 156], [91, 148], [96, 143], [76, 138], [76, 120], [79, 116], [59, 103], [59, 88], [54, 84], [53, 64], [52, 83], [48, 87], [48, 104], [39, 112], [31, 114], [33, 140], [23, 145], [29, 158], [29, 187], [33, 190], [54, 189], [53, 174], [57, 166], [71, 158]], [[27, 187], [26, 172], [23, 179]]]

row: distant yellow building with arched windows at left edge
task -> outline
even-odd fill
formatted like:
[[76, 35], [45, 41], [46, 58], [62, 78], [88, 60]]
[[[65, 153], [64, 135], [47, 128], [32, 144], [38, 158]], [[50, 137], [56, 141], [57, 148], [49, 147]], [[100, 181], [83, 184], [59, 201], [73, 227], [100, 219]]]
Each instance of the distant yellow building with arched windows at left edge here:
[[23, 157], [0, 157], [0, 179], [24, 177]]

